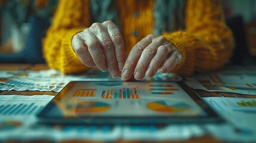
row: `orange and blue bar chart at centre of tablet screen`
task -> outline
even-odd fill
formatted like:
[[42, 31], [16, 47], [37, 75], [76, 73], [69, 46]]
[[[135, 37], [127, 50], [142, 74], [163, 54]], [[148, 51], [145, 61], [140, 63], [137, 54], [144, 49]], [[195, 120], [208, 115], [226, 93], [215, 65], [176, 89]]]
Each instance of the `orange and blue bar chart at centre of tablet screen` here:
[[140, 89], [134, 88], [115, 88], [105, 89], [101, 94], [103, 99], [140, 99]]

